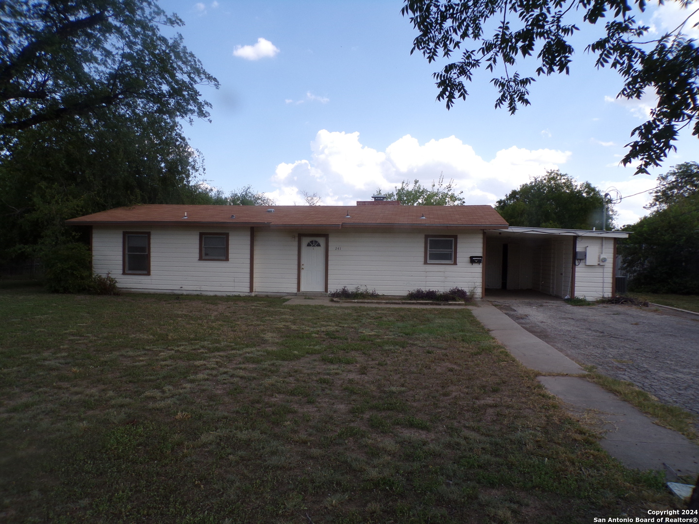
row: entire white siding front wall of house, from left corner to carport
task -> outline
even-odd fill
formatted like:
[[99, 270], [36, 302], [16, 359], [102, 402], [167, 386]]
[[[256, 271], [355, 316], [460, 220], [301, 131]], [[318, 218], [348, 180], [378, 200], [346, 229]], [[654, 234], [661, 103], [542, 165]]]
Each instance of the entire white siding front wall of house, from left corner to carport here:
[[[129, 228], [150, 231], [150, 275], [122, 275], [123, 228], [94, 227], [94, 270], [110, 272], [127, 291], [247, 294], [250, 290], [248, 228]], [[200, 261], [199, 232], [228, 232], [229, 261]], [[317, 233], [316, 231], [310, 233]], [[308, 233], [308, 234], [310, 234]], [[328, 289], [367, 286], [377, 293], [405, 295], [412, 289], [446, 291], [459, 286], [482, 293], [482, 231], [429, 231], [457, 235], [457, 263], [424, 264], [425, 231], [355, 229], [329, 233]], [[296, 293], [298, 233], [256, 228], [254, 293]]]

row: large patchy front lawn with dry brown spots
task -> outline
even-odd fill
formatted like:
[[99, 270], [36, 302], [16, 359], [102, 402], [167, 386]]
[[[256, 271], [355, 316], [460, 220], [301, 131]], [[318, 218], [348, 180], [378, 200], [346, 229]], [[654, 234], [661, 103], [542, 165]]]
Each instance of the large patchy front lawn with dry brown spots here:
[[568, 524], [677, 507], [466, 309], [15, 288], [0, 318], [6, 523]]

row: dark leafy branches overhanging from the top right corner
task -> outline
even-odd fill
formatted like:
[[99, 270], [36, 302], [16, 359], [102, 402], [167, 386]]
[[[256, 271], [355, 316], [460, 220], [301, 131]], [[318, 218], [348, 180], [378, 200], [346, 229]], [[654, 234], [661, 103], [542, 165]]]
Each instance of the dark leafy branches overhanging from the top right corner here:
[[[662, 0], [659, 3], [663, 3]], [[680, 0], [682, 6], [689, 0]], [[605, 22], [586, 50], [596, 54], [596, 66], [610, 67], [624, 79], [619, 92], [626, 99], [640, 99], [644, 92], [657, 94], [658, 103], [647, 122], [633, 129], [622, 163], [640, 160], [637, 173], [659, 166], [675, 150], [679, 130], [693, 123], [699, 135], [699, 52], [684, 36], [681, 24], [675, 31], [649, 38], [651, 28], [639, 24], [646, 0], [405, 0], [401, 10], [419, 31], [411, 50], [428, 61], [451, 58], [434, 73], [438, 100], [447, 108], [466, 99], [466, 83], [481, 67], [493, 74], [491, 83], [503, 105], [514, 113], [529, 105], [535, 77], [514, 70], [518, 59], [535, 55], [535, 75], [568, 74], [574, 48], [570, 41], [583, 24]], [[686, 13], [689, 15], [691, 13]], [[685, 20], [686, 23], [686, 20]]]

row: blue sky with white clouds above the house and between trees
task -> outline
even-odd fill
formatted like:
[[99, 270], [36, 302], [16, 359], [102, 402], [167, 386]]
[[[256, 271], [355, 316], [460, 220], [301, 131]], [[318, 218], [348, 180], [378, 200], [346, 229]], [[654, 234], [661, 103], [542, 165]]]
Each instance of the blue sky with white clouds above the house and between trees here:
[[[508, 191], [560, 168], [626, 196], [655, 177], [622, 168], [624, 144], [652, 99], [620, 103], [621, 79], [598, 71], [577, 42], [571, 75], [540, 78], [514, 116], [496, 110], [484, 71], [452, 110], [435, 101], [439, 64], [410, 55], [415, 31], [401, 1], [161, 1], [180, 15], [185, 44], [221, 87], [204, 87], [212, 122], [185, 124], [208, 183], [247, 184], [278, 204], [353, 204], [401, 180], [454, 179], [466, 203], [494, 204]], [[642, 15], [674, 27], [673, 3]], [[674, 25], [673, 25], [674, 24]], [[587, 36], [589, 38], [589, 36]], [[530, 66], [525, 62], [521, 71]], [[682, 136], [663, 168], [699, 160], [699, 140]], [[646, 213], [647, 194], [617, 205], [619, 223]]]

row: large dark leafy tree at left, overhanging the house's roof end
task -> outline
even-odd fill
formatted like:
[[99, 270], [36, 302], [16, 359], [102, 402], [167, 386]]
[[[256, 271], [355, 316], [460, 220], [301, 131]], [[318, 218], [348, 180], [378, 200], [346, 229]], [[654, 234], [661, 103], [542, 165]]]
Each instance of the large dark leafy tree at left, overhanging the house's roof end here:
[[[208, 203], [182, 121], [217, 85], [150, 0], [0, 1], [0, 251], [74, 235], [119, 205]], [[37, 249], [40, 248], [40, 249]]]

